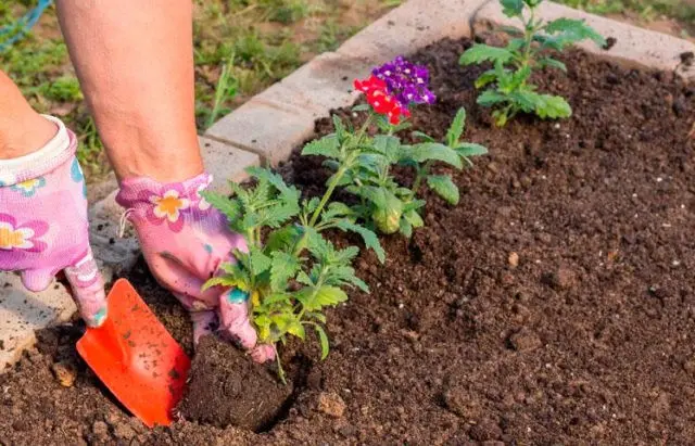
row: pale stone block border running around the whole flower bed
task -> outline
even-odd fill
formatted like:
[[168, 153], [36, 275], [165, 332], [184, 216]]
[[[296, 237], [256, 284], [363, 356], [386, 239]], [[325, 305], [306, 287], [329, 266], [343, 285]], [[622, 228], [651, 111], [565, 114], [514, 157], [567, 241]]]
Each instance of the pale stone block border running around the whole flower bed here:
[[[695, 44], [686, 40], [555, 3], [542, 4], [539, 13], [544, 20], [583, 18], [605, 37], [616, 39], [608, 50], [580, 46], [590, 53], [695, 79], [695, 66], [681, 64], [681, 54], [695, 52]], [[242, 180], [249, 166], [287, 160], [314, 135], [317, 118], [354, 103], [352, 80], [369, 73], [372, 65], [446, 37], [470, 37], [509, 24], [497, 0], [407, 1], [337, 51], [317, 55], [211, 127], [200, 140], [205, 165], [215, 176], [213, 189], [224, 190], [227, 179]], [[132, 234], [118, 238], [122, 211], [114, 196], [115, 191], [90, 208], [94, 255], [106, 280], [130, 268], [138, 257]], [[65, 322], [75, 311], [63, 285], [30, 293], [21, 286], [17, 276], [0, 272], [0, 373], [35, 344], [35, 330]]]

